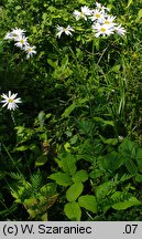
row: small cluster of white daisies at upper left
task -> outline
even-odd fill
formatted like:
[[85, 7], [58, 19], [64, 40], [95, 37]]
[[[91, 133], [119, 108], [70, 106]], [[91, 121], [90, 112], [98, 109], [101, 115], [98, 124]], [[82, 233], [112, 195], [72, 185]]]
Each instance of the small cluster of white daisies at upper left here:
[[26, 59], [30, 59], [33, 54], [36, 54], [35, 46], [31, 46], [28, 42], [28, 38], [24, 35], [24, 30], [22, 29], [12, 29], [11, 32], [8, 32], [4, 37], [4, 40], [13, 40], [14, 45], [20, 48], [26, 53]]

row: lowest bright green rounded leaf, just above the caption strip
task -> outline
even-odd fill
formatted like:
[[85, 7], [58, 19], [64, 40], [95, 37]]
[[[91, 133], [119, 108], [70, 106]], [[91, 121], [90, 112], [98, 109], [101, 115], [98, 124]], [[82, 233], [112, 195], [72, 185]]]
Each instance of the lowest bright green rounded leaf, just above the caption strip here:
[[81, 209], [76, 201], [67, 202], [64, 207], [65, 215], [73, 221], [79, 221]]

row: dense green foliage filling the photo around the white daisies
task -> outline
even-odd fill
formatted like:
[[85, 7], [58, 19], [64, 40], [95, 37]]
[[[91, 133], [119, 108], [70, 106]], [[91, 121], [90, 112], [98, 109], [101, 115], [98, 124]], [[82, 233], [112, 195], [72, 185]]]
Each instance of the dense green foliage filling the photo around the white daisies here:
[[142, 3], [99, 2], [0, 3], [1, 220], [142, 220]]

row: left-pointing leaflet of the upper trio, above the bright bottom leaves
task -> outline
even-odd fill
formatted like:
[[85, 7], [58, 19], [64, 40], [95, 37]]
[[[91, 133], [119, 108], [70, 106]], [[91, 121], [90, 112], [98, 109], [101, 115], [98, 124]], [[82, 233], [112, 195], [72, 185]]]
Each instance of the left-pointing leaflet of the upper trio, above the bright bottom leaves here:
[[58, 172], [55, 174], [52, 174], [50, 176], [51, 179], [55, 180], [56, 184], [61, 186], [70, 186], [73, 184], [73, 180], [69, 175], [66, 175], [65, 173]]

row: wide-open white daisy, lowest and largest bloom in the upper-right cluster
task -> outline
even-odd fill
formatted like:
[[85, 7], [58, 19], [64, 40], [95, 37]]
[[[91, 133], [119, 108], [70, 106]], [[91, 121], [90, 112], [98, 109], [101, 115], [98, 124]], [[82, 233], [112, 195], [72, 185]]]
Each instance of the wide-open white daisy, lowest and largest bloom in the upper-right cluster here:
[[106, 37], [113, 34], [113, 29], [110, 28], [108, 24], [96, 23], [92, 25], [92, 29], [97, 32], [95, 34], [96, 38], [99, 38], [100, 35]]

